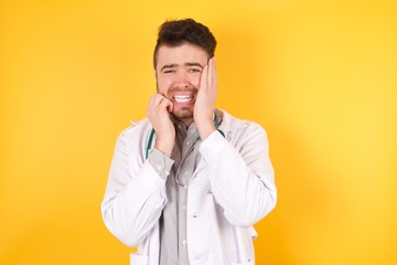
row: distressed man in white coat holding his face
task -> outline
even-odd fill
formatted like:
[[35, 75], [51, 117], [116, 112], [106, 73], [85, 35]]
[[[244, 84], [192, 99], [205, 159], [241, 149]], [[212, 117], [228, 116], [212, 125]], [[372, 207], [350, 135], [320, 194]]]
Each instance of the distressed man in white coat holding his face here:
[[215, 108], [216, 41], [192, 19], [168, 21], [154, 49], [147, 119], [119, 136], [101, 205], [138, 246], [131, 264], [255, 264], [253, 225], [276, 205], [265, 130]]

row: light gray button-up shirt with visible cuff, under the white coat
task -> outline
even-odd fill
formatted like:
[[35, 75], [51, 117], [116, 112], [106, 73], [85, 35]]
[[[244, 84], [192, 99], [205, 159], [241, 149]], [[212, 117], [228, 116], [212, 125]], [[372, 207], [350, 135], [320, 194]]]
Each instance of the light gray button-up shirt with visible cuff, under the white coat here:
[[175, 146], [171, 159], [151, 149], [149, 162], [167, 179], [168, 202], [160, 218], [160, 265], [189, 265], [186, 241], [186, 202], [190, 179], [201, 159], [201, 144], [195, 124], [186, 128], [175, 123]]

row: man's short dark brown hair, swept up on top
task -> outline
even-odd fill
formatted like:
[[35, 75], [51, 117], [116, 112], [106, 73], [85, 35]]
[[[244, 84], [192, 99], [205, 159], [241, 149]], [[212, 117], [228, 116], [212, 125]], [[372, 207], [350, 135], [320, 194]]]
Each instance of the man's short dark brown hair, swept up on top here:
[[159, 28], [159, 39], [153, 54], [154, 68], [160, 46], [180, 46], [186, 42], [203, 49], [210, 57], [214, 56], [216, 40], [207, 26], [193, 19], [165, 21]]

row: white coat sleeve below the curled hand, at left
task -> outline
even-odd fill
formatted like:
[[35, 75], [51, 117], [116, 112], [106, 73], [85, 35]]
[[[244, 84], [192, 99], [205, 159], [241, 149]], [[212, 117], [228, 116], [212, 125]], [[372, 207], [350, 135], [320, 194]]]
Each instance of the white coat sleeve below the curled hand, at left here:
[[[140, 155], [138, 134], [119, 136], [101, 204], [108, 230], [128, 246], [139, 245], [167, 203], [165, 180]], [[141, 139], [142, 140], [142, 139]]]

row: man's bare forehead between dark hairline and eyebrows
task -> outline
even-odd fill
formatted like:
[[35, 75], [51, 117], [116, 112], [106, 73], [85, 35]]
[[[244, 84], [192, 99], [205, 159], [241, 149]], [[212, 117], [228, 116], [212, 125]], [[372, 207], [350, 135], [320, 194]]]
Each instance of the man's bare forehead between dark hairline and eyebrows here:
[[160, 46], [158, 51], [157, 66], [165, 64], [183, 65], [185, 63], [206, 64], [208, 54], [200, 46], [183, 43], [179, 46]]

